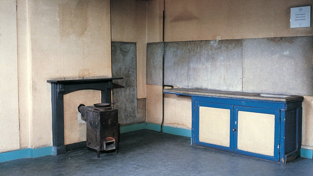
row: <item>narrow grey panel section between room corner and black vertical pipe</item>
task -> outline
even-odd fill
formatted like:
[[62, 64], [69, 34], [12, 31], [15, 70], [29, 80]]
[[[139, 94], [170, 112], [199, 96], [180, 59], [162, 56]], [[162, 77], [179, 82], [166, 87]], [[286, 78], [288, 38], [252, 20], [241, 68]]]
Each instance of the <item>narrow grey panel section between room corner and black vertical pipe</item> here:
[[147, 44], [146, 84], [162, 85], [162, 43]]

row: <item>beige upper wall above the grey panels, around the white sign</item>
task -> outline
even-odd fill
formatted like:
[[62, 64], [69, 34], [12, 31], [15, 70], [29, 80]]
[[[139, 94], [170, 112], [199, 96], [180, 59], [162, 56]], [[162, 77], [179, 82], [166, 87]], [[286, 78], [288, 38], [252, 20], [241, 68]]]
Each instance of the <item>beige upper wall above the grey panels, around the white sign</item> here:
[[312, 35], [312, 27], [290, 28], [290, 8], [309, 5], [310, 0], [165, 0], [165, 41]]

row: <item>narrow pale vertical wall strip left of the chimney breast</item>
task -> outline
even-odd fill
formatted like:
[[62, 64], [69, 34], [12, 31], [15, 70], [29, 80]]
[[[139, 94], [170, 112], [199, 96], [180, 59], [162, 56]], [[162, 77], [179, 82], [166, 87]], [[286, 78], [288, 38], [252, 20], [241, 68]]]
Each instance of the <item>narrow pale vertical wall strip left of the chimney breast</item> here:
[[[30, 2], [18, 0], [17, 5], [17, 45], [18, 45], [18, 101], [20, 148], [32, 145], [32, 60], [30, 38]], [[27, 128], [27, 129], [24, 129]], [[24, 142], [25, 141], [25, 142]]]

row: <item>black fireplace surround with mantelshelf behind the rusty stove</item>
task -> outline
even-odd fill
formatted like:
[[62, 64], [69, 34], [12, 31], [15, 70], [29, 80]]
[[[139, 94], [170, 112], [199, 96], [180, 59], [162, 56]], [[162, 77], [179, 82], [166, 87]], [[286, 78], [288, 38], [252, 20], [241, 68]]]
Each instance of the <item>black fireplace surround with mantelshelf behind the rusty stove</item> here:
[[64, 154], [69, 150], [86, 147], [86, 141], [74, 144], [64, 144], [64, 102], [63, 95], [79, 90], [101, 91], [101, 103], [111, 102], [112, 80], [116, 78], [87, 78], [87, 79], [63, 79], [47, 80], [51, 83], [52, 104], [52, 140], [53, 153]]

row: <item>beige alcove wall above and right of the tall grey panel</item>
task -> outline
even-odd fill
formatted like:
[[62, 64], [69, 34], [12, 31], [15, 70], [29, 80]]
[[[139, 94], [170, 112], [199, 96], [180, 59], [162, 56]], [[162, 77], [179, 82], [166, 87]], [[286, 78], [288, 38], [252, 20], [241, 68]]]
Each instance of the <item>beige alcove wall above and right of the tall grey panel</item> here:
[[146, 98], [147, 2], [111, 0], [111, 36], [114, 42], [137, 43], [137, 98]]

